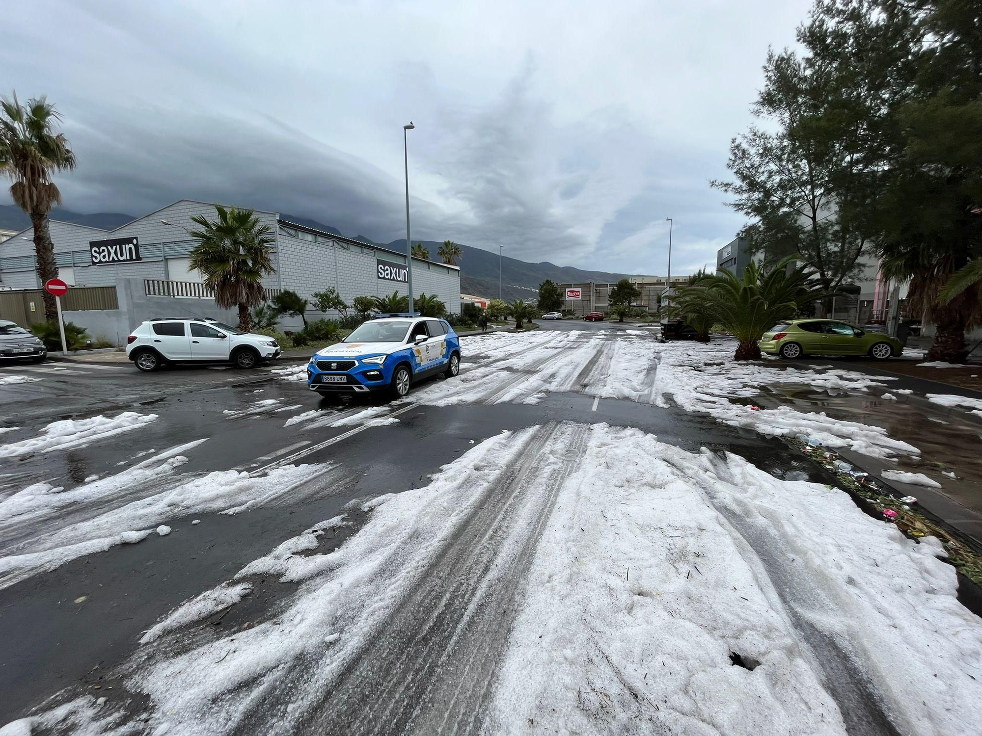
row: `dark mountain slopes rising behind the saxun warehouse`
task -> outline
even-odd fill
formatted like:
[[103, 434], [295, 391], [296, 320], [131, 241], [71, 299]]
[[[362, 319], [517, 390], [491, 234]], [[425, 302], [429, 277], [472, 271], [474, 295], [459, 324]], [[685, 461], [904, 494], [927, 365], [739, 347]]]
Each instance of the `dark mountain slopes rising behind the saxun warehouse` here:
[[[284, 220], [303, 225], [308, 228], [343, 235], [337, 228], [324, 225], [317, 220], [305, 217], [282, 214]], [[119, 212], [95, 212], [92, 214], [81, 214], [67, 210], [63, 207], [55, 207], [51, 210], [52, 220], [87, 225], [92, 228], [102, 228], [103, 230], [113, 230], [126, 225], [135, 220], [132, 215], [125, 215]], [[24, 230], [30, 226], [30, 220], [20, 207], [10, 205], [0, 205], [0, 228], [10, 230]], [[355, 240], [361, 240], [373, 245], [379, 245], [390, 250], [397, 250], [401, 253], [406, 252], [406, 238], [392, 240], [391, 242], [380, 242], [371, 240], [361, 235], [355, 236]], [[430, 252], [433, 260], [438, 260], [437, 248], [442, 242], [436, 240], [413, 240], [421, 242]], [[501, 268], [501, 295], [505, 299], [531, 299], [538, 293], [539, 284], [546, 279], [552, 279], [557, 284], [574, 282], [599, 282], [615, 283], [627, 277], [627, 274], [614, 274], [607, 271], [589, 271], [585, 269], [573, 268], [573, 266], [557, 266], [549, 261], [541, 263], [529, 263], [502, 256], [500, 263], [498, 257], [482, 248], [471, 247], [458, 243], [464, 254], [461, 256], [458, 265], [461, 267], [461, 290], [464, 293], [497, 298], [499, 294], [499, 265]]]

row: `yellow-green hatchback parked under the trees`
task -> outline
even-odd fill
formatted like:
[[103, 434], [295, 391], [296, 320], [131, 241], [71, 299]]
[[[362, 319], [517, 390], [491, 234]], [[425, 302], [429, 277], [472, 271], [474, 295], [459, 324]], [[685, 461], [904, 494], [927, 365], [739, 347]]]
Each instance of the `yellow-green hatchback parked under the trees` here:
[[860, 330], [839, 320], [791, 320], [764, 334], [760, 349], [783, 358], [802, 355], [869, 355], [886, 360], [900, 355], [903, 344], [883, 333]]

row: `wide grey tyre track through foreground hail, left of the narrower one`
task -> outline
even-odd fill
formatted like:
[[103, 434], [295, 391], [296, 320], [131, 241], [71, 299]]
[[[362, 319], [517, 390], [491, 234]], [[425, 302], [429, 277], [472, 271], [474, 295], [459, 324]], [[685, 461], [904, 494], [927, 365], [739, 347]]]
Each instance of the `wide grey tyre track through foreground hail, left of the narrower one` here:
[[[550, 423], [521, 448], [419, 584], [332, 683], [300, 730], [474, 730], [516, 612], [518, 586], [587, 426]], [[557, 457], [561, 454], [561, 457]]]

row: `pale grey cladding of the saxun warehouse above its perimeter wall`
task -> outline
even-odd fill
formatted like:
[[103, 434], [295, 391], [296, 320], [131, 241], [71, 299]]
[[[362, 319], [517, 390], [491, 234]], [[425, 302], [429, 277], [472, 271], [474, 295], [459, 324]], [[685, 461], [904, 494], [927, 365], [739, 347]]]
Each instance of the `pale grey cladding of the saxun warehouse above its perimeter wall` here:
[[[355, 296], [408, 293], [406, 253], [292, 223], [277, 212], [255, 210], [255, 215], [262, 225], [269, 226], [275, 239], [275, 272], [263, 280], [265, 288], [290, 289], [311, 299], [314, 292], [333, 287], [349, 303]], [[166, 303], [168, 296], [184, 297], [182, 305], [185, 298], [202, 302], [211, 298], [201, 288], [201, 275], [191, 268], [191, 249], [196, 241], [187, 231], [197, 228], [191, 222], [194, 216], [215, 219], [215, 205], [182, 199], [112, 231], [51, 221], [58, 275], [70, 286], [121, 287], [126, 283], [133, 289], [134, 280], [142, 281], [143, 295], [162, 299], [161, 313], [126, 315], [128, 324], [150, 317], [179, 316], [170, 313], [174, 305]], [[460, 313], [461, 272], [457, 266], [413, 258], [412, 282], [414, 296], [435, 294], [448, 312]], [[0, 242], [0, 289], [40, 287], [33, 233], [28, 228]], [[140, 303], [144, 304], [140, 311], [152, 311], [157, 304], [153, 299], [141, 299]], [[312, 306], [307, 314], [308, 319], [337, 316], [322, 315]], [[285, 317], [281, 323], [283, 329], [299, 326], [300, 318]]]

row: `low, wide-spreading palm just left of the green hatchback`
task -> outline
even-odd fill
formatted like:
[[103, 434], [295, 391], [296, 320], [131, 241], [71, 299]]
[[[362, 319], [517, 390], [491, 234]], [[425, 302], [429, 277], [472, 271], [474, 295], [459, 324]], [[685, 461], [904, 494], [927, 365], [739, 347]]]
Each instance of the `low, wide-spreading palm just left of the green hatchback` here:
[[704, 277], [698, 285], [682, 287], [674, 301], [697, 309], [710, 324], [720, 324], [736, 338], [735, 360], [760, 359], [758, 342], [782, 320], [791, 319], [802, 304], [828, 296], [807, 266], [789, 272], [793, 257], [765, 270], [756, 263], [742, 276], [730, 271]]

